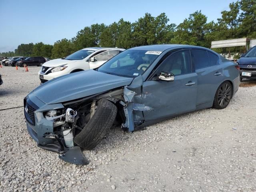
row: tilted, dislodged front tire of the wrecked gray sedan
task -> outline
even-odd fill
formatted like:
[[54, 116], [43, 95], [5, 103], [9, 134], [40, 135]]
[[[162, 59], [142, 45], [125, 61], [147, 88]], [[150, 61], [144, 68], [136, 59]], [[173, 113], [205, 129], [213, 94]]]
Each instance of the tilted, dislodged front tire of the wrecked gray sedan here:
[[83, 130], [74, 137], [74, 142], [86, 150], [96, 147], [109, 133], [116, 118], [116, 106], [106, 99], [100, 99], [96, 112]]

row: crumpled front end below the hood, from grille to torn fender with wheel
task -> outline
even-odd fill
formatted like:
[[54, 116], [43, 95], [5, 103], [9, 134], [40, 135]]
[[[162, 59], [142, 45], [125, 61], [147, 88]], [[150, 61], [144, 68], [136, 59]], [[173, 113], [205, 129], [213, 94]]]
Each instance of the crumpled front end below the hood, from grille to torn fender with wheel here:
[[109, 133], [113, 124], [132, 132], [144, 126], [142, 76], [129, 86], [62, 103], [46, 104], [31, 92], [24, 99], [30, 136], [40, 148], [58, 152], [73, 164], [88, 164], [80, 147], [91, 150]]

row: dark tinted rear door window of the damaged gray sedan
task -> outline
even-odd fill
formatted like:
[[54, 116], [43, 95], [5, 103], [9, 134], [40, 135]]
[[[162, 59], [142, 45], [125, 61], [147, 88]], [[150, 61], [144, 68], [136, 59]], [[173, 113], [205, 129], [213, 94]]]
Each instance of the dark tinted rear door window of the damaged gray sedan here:
[[208, 55], [205, 50], [192, 49], [191, 56], [195, 69], [201, 69], [210, 66]]

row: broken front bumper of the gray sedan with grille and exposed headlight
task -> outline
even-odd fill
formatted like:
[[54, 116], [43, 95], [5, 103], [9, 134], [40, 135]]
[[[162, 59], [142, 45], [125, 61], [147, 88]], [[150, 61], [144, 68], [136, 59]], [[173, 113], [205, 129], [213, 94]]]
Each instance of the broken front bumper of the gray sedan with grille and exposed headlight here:
[[66, 112], [62, 104], [45, 104], [33, 93], [24, 98], [28, 133], [37, 142], [38, 147], [60, 153], [59, 157], [66, 162], [88, 164], [80, 147], [74, 146], [73, 143], [70, 126], [74, 123], [75, 116], [73, 120], [68, 119], [68, 116], [66, 121]]

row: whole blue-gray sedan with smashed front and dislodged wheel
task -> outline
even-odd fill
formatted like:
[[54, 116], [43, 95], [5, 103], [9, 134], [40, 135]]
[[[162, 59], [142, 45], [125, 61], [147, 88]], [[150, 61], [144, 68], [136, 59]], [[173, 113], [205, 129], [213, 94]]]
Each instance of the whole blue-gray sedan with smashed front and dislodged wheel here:
[[95, 70], [50, 80], [24, 98], [30, 136], [74, 164], [113, 124], [132, 132], [182, 113], [228, 106], [239, 67], [212, 50], [186, 45], [126, 50]]

